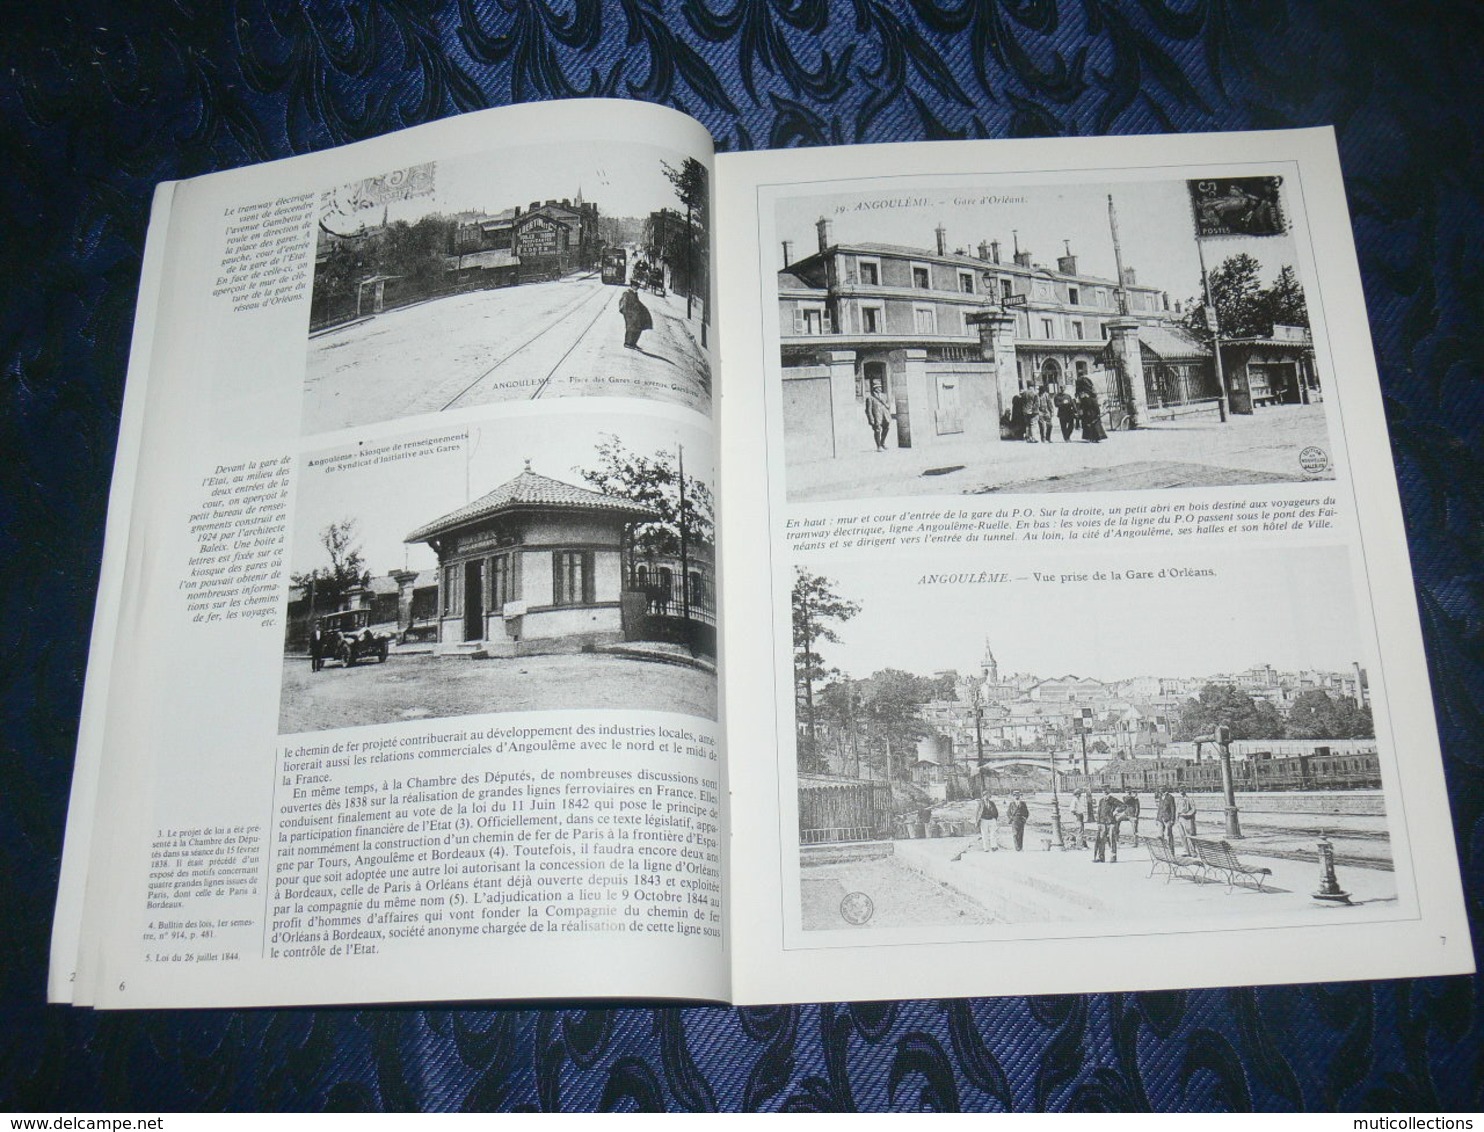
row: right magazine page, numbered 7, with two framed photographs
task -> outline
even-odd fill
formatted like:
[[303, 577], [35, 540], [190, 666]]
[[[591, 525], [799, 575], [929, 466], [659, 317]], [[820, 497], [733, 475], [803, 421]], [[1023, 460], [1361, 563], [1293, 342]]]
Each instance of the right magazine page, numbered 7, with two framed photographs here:
[[1472, 970], [1333, 134], [718, 184], [735, 998]]

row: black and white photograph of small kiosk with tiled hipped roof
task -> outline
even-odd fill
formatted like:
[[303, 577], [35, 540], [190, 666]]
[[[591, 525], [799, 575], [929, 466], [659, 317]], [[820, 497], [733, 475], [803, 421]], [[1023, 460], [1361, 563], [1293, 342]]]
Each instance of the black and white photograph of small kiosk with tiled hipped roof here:
[[699, 432], [459, 426], [303, 457], [279, 731], [573, 708], [717, 717]]

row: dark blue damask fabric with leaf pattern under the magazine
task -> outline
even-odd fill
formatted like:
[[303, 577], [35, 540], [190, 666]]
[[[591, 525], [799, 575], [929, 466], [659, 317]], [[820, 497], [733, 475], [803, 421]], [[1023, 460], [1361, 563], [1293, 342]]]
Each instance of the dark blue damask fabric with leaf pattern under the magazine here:
[[12, 6], [0, 33], [0, 1108], [1484, 1107], [1481, 984], [1465, 978], [752, 1010], [43, 1004], [154, 182], [594, 95], [686, 110], [723, 148], [1333, 123], [1478, 938], [1481, 31], [1475, 6], [1379, 0]]

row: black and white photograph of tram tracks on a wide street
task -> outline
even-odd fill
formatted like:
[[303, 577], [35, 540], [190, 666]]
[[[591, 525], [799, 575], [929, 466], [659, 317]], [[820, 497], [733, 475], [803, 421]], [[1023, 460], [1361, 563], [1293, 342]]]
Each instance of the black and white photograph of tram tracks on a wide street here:
[[697, 159], [603, 141], [325, 193], [304, 433], [570, 396], [709, 414], [709, 214]]

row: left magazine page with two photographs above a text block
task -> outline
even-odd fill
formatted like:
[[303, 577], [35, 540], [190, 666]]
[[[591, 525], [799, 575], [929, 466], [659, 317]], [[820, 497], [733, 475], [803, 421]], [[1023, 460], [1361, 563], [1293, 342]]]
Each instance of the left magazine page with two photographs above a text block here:
[[53, 997], [727, 997], [711, 163], [588, 101], [172, 187]]

